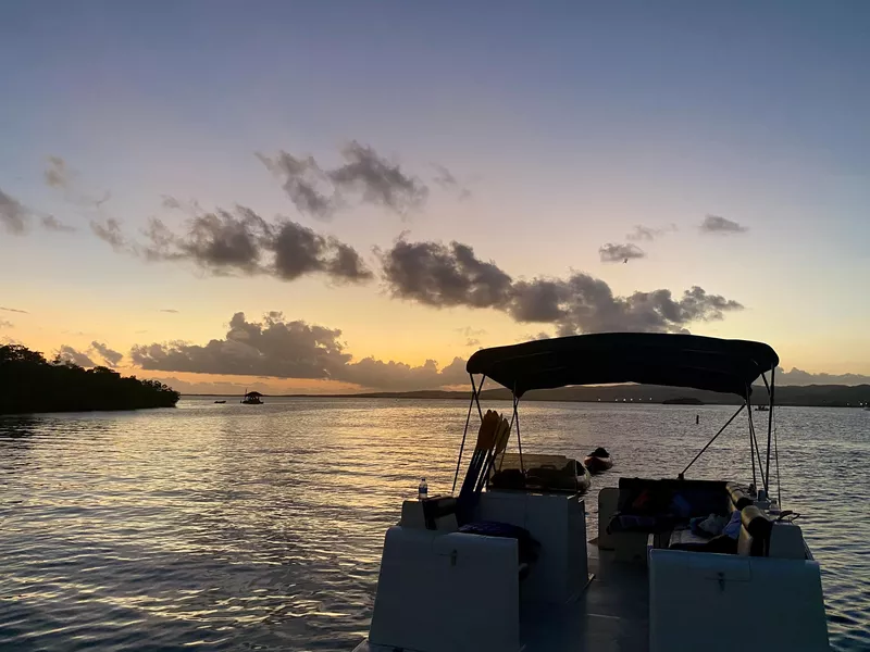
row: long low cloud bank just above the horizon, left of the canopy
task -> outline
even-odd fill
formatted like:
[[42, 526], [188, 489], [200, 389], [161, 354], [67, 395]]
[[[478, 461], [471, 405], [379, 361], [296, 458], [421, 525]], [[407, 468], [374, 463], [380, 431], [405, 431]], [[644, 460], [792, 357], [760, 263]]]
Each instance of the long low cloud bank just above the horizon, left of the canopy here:
[[464, 362], [438, 368], [432, 360], [420, 366], [364, 358], [352, 362], [341, 331], [271, 312], [261, 322], [236, 313], [224, 339], [204, 346], [186, 342], [138, 344], [134, 364], [148, 371], [245, 375], [274, 378], [330, 379], [377, 389], [428, 389], [461, 384]]

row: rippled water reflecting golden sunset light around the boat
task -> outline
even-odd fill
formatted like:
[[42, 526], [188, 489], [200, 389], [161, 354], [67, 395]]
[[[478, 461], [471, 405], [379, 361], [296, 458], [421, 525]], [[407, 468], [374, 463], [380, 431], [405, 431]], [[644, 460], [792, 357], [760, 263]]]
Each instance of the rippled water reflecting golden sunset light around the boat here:
[[[0, 649], [352, 649], [384, 531], [421, 475], [450, 489], [465, 410], [191, 399], [0, 417]], [[612, 452], [594, 531], [599, 487], [675, 475], [731, 411], [527, 403], [524, 449]], [[870, 413], [778, 414], [783, 503], [822, 563], [832, 645], [870, 650]], [[747, 449], [745, 428], [729, 431], [689, 475], [746, 479]]]

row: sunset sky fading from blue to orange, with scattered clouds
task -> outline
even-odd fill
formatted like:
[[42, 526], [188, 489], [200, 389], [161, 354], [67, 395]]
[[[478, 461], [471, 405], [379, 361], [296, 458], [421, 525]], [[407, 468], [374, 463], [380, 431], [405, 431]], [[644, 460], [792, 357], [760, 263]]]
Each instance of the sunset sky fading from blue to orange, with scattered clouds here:
[[7, 3], [0, 340], [188, 392], [594, 330], [868, 381], [868, 34], [861, 0]]

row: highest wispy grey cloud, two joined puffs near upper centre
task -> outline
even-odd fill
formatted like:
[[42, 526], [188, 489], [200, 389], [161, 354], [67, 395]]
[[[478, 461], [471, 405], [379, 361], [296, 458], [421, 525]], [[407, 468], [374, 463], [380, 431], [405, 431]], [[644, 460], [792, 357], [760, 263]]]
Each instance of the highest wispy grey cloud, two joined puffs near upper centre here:
[[348, 205], [359, 203], [387, 208], [405, 215], [421, 206], [428, 188], [413, 175], [381, 156], [372, 147], [352, 140], [340, 152], [343, 165], [325, 168], [311, 156], [279, 151], [275, 156], [257, 154], [300, 213], [328, 220]]

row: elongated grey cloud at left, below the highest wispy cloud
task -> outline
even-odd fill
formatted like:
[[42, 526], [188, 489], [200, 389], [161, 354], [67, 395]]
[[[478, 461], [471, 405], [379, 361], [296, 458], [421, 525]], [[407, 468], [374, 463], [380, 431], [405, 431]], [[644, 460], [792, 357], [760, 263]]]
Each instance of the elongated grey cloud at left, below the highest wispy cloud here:
[[141, 231], [144, 242], [128, 240], [112, 218], [91, 222], [91, 228], [116, 251], [149, 262], [194, 263], [215, 276], [268, 275], [295, 280], [323, 274], [337, 283], [364, 283], [374, 276], [351, 246], [296, 222], [268, 222], [240, 205], [210, 213], [201, 212], [196, 203], [183, 205], [173, 198], [164, 198], [163, 205], [191, 211], [190, 216], [177, 229], [152, 217]]

